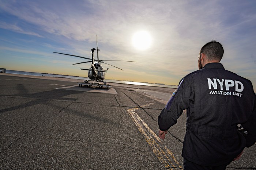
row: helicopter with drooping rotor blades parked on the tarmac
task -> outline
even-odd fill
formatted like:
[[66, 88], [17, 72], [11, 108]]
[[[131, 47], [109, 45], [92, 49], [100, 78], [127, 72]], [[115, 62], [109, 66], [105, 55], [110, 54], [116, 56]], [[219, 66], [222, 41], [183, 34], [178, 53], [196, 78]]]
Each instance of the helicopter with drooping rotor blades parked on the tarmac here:
[[[106, 70], [103, 69], [103, 66], [101, 65], [101, 63], [105, 63], [103, 61], [123, 61], [123, 60], [99, 60], [99, 53], [98, 51], [100, 51], [98, 49], [98, 38], [96, 35], [96, 43], [97, 43], [97, 59], [94, 59], [94, 51], [96, 50], [95, 48], [91, 49], [91, 59], [90, 58], [86, 58], [86, 57], [81, 57], [78, 55], [71, 55], [71, 54], [64, 54], [64, 53], [57, 53], [57, 52], [53, 52], [53, 53], [57, 53], [57, 54], [64, 54], [64, 55], [70, 55], [70, 56], [74, 56], [74, 57], [79, 57], [79, 58], [84, 58], [84, 59], [88, 59], [91, 61], [86, 61], [86, 62], [80, 62], [80, 63], [75, 63], [73, 65], [76, 64], [82, 64], [82, 63], [90, 63], [91, 62], [91, 67], [90, 69], [81, 69], [81, 70], [88, 70], [88, 77], [89, 80], [84, 80], [85, 83], [88, 83], [89, 81], [95, 81], [95, 82], [103, 82], [104, 85], [106, 85], [106, 81], [103, 81], [105, 79], [106, 76], [106, 72], [109, 70], [109, 68], [107, 68]], [[125, 61], [125, 62], [136, 62], [136, 61]], [[110, 65], [108, 63], [105, 63], [107, 65]], [[110, 65], [113, 66], [113, 65]], [[113, 66], [116, 67], [116, 66]], [[116, 67], [117, 69], [120, 69], [118, 67]], [[123, 69], [120, 69], [123, 70]]]

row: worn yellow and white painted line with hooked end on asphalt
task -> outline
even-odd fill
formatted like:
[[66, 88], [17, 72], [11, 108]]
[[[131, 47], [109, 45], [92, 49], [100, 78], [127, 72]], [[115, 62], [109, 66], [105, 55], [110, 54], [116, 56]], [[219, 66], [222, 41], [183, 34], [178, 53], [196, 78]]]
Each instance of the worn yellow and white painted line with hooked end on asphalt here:
[[[153, 103], [142, 105], [140, 107], [144, 108]], [[155, 134], [153, 130], [140, 118], [136, 113], [140, 108], [128, 109], [129, 116], [132, 118], [132, 121], [135, 123], [136, 127], [140, 133], [144, 136], [147, 144], [150, 146], [153, 153], [157, 156], [158, 160], [164, 165], [165, 168], [178, 166], [182, 168], [178, 163], [177, 159], [174, 157], [174, 154], [171, 150], [167, 149], [162, 145], [161, 139]]]

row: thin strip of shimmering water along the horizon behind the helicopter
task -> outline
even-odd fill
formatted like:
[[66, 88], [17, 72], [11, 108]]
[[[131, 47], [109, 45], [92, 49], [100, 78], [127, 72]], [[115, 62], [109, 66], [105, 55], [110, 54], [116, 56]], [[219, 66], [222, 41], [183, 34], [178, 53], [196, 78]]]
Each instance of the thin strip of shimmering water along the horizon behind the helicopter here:
[[[79, 79], [79, 80], [89, 80], [88, 77], [64, 76], [64, 75], [57, 75], [57, 74], [22, 72], [22, 71], [14, 71], [14, 70], [6, 70], [6, 73], [23, 74], [23, 75], [29, 75], [29, 76], [62, 77], [62, 78], [72, 78], [72, 79]], [[119, 81], [119, 80], [108, 80], [108, 79], [105, 79], [105, 81], [112, 82], [112, 83], [120, 83], [120, 84], [132, 84], [132, 85], [142, 85], [142, 86], [177, 88], [177, 86], [173, 86], [173, 85], [151, 84], [151, 83], [133, 82], [133, 81]]]

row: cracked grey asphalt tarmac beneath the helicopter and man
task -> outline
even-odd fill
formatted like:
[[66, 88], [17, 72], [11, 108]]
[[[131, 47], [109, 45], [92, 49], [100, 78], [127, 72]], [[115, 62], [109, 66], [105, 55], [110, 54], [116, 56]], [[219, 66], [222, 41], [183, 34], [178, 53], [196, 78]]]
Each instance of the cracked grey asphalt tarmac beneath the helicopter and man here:
[[[77, 81], [0, 74], [0, 169], [183, 168], [186, 113], [157, 137], [175, 89]], [[256, 169], [255, 158], [253, 145], [227, 169]]]

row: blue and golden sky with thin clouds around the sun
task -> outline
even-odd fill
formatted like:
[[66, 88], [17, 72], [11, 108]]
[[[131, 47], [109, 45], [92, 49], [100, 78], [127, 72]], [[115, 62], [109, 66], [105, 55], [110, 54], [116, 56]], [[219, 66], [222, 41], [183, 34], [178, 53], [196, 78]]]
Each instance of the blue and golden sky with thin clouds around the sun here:
[[255, 0], [0, 0], [1, 68], [87, 77], [90, 63], [72, 65], [86, 59], [52, 52], [91, 58], [96, 35], [100, 60], [136, 61], [102, 63], [106, 79], [178, 85], [216, 40], [256, 89]]

